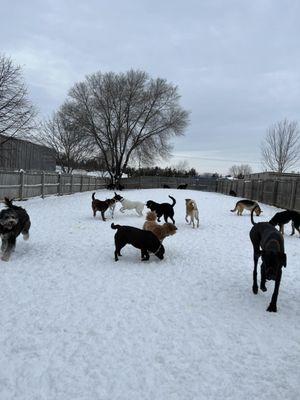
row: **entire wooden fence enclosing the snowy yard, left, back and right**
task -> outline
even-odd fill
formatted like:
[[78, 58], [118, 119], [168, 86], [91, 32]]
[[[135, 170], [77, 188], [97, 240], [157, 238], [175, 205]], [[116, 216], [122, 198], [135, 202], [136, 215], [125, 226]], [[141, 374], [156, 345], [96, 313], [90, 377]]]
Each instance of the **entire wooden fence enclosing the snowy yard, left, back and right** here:
[[[49, 172], [0, 171], [0, 199], [25, 199], [48, 195], [65, 195], [99, 190], [106, 187], [104, 178], [87, 175], [57, 174]], [[126, 189], [177, 188], [187, 184], [188, 189], [229, 194], [234, 190], [245, 197], [280, 208], [300, 211], [300, 178], [280, 179], [215, 179], [209, 177], [139, 176], [122, 179]]]

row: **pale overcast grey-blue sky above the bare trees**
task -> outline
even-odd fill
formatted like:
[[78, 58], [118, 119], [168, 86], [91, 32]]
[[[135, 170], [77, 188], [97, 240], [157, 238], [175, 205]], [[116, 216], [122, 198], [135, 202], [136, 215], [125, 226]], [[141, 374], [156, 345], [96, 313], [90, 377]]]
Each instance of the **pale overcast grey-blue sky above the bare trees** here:
[[168, 163], [259, 171], [268, 126], [300, 120], [299, 16], [298, 0], [2, 0], [0, 52], [41, 116], [99, 70], [166, 78], [191, 112]]

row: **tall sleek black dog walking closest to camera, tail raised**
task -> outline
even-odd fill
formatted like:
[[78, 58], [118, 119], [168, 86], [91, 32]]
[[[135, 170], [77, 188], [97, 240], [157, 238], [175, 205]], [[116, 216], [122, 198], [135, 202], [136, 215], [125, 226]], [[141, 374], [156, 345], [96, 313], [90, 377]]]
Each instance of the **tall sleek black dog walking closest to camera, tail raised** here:
[[251, 222], [253, 227], [250, 231], [250, 239], [254, 252], [253, 286], [254, 294], [258, 292], [257, 286], [257, 263], [261, 256], [261, 281], [260, 289], [265, 292], [266, 280], [274, 280], [275, 287], [271, 302], [267, 311], [277, 311], [277, 297], [279, 292], [281, 269], [286, 267], [286, 254], [284, 252], [284, 241], [281, 233], [269, 222], [255, 223], [253, 220], [254, 209], [251, 211]]

